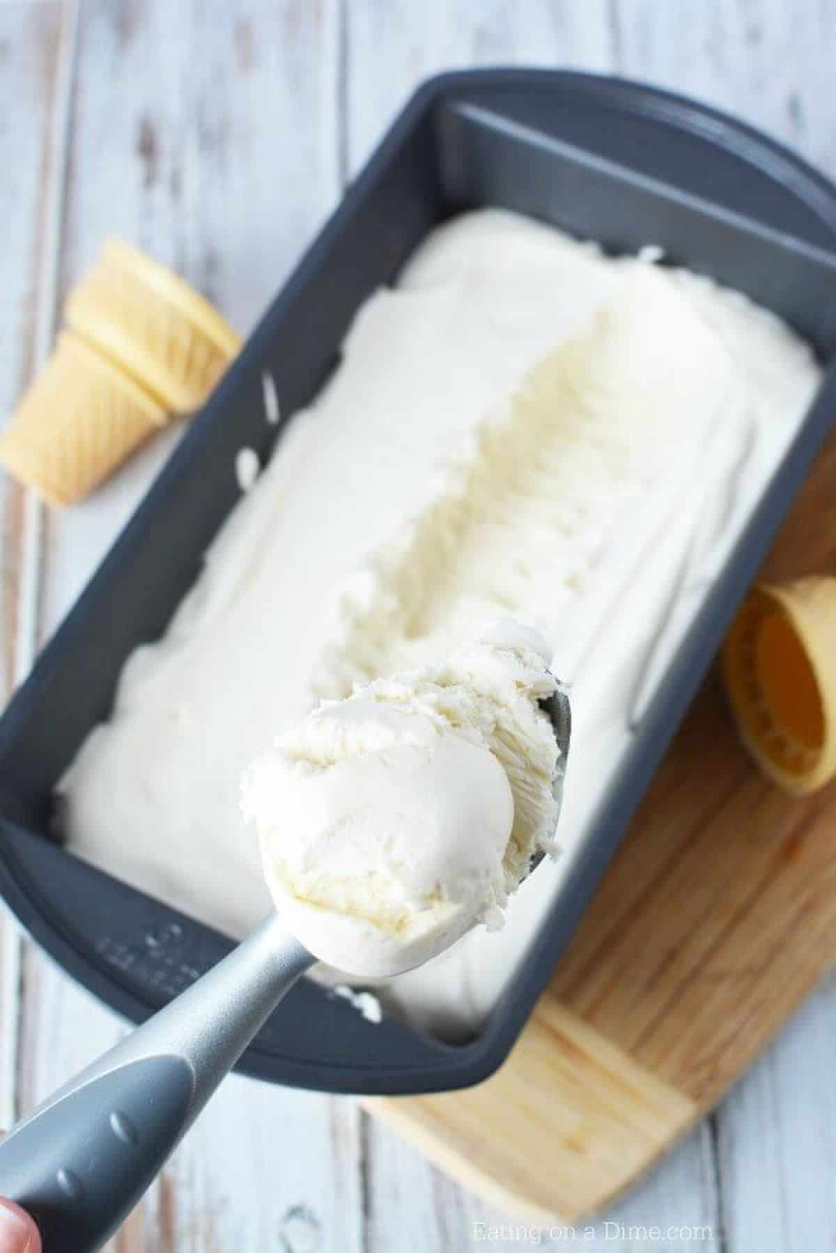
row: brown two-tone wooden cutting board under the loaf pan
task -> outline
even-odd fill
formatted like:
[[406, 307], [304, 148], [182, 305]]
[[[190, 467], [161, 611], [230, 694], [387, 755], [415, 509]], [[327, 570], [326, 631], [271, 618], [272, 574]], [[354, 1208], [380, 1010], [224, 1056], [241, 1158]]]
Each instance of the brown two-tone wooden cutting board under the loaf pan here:
[[[836, 436], [762, 574], [836, 574]], [[835, 961], [836, 783], [767, 783], [714, 669], [503, 1069], [363, 1104], [491, 1203], [570, 1223], [711, 1109]]]

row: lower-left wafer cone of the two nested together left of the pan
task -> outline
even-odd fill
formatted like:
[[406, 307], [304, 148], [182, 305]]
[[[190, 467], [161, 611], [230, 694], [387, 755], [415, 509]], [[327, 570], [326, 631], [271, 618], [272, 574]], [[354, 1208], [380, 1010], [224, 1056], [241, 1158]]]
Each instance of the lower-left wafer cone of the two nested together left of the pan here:
[[70, 505], [165, 417], [158, 401], [65, 331], [0, 435], [0, 461], [51, 504]]

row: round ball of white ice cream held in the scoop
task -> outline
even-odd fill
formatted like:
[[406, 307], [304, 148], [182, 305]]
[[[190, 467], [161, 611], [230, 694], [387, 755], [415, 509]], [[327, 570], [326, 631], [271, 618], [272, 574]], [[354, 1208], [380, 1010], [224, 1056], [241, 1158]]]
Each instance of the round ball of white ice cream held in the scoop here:
[[554, 690], [539, 637], [501, 623], [320, 705], [248, 768], [267, 886], [315, 956], [381, 977], [501, 925], [554, 851], [562, 769], [539, 705]]

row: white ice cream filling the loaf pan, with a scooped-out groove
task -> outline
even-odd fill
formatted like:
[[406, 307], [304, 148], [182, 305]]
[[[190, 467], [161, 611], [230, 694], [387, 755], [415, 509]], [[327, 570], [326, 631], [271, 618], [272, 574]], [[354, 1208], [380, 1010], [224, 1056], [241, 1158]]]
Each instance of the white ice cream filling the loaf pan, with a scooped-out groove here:
[[[486, 471], [503, 507], [476, 510], [457, 559], [446, 553], [440, 570], [424, 563], [422, 551], [446, 551], [432, 548], [432, 502], [449, 510], [462, 472], [479, 465], [483, 432], [513, 425], [509, 397], [524, 376], [588, 335], [613, 302], [632, 308], [609, 345], [627, 403], [607, 392], [612, 371], [595, 373], [594, 342], [587, 365], [583, 352], [574, 367], [553, 362], [569, 386], [584, 368], [592, 392], [600, 380], [600, 456], [587, 456], [585, 411], [562, 402], [563, 427], [538, 419], [550, 432], [543, 475], [539, 445], [533, 460], [519, 459], [519, 479]], [[630, 342], [643, 373], [632, 368]], [[476, 615], [530, 616], [554, 673], [573, 682], [564, 856], [523, 885], [501, 932], [469, 936], [386, 989], [419, 1022], [469, 1029], [511, 977], [629, 743], [672, 591], [696, 611], [817, 380], [786, 327], [707, 279], [604, 259], [498, 211], [435, 232], [399, 286], [360, 311], [338, 371], [282, 434], [165, 637], [130, 658], [112, 720], [63, 784], [70, 847], [243, 933], [269, 901], [238, 813], [238, 777], [277, 719], [301, 717], [317, 695], [345, 695], [352, 678], [427, 660], [435, 648], [444, 655]], [[612, 421], [619, 406], [625, 422]], [[543, 507], [565, 504], [567, 492], [564, 515], [549, 512], [544, 528]], [[694, 545], [712, 512], [711, 543]], [[427, 517], [424, 549], [415, 521]], [[416, 584], [409, 594], [401, 568]], [[397, 595], [381, 598], [387, 586]], [[419, 609], [404, 623], [407, 601]]]

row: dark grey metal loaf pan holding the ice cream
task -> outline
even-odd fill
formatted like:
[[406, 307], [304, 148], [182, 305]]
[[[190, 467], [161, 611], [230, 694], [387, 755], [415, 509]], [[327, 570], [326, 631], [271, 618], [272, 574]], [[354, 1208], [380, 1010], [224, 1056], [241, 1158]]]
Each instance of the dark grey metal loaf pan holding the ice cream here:
[[[159, 637], [196, 579], [239, 497], [236, 452], [247, 445], [263, 460], [282, 437], [263, 419], [263, 372], [274, 380], [283, 415], [306, 405], [333, 368], [358, 304], [396, 276], [439, 222], [488, 204], [612, 252], [659, 244], [677, 264], [775, 309], [823, 362], [833, 358], [836, 189], [792, 153], [711, 109], [617, 79], [498, 69], [444, 75], [421, 88], [0, 720], [0, 891], [68, 974], [137, 1022], [231, 941], [66, 853], [50, 834], [54, 784], [107, 718], [128, 654]], [[455, 1046], [396, 1021], [371, 1024], [303, 981], [239, 1070], [327, 1091], [406, 1094], [465, 1086], [501, 1064], [835, 413], [831, 368], [602, 796], [519, 977], [481, 1034]]]

